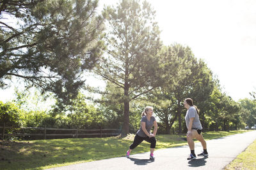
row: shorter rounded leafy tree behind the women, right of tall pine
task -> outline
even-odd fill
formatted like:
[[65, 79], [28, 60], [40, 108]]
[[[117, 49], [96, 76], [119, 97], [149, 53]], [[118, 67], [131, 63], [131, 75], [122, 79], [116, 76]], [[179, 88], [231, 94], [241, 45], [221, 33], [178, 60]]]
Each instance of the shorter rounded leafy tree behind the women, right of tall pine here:
[[211, 94], [212, 73], [205, 63], [199, 62], [188, 46], [173, 44], [159, 53], [161, 76], [164, 83], [147, 96], [156, 104], [155, 112], [163, 122], [167, 134], [175, 121], [179, 121], [179, 133], [184, 127], [184, 99], [191, 97], [196, 103], [204, 102]]

